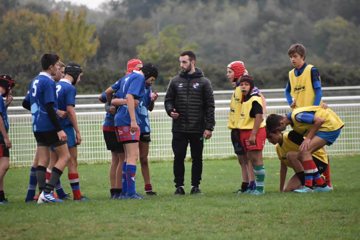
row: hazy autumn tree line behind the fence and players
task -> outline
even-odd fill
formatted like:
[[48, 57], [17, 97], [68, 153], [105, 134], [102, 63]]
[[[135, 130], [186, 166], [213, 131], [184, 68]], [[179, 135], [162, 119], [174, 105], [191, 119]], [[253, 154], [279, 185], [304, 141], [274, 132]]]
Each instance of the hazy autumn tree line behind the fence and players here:
[[214, 90], [231, 89], [228, 63], [240, 60], [261, 89], [283, 88], [292, 69], [287, 50], [306, 47], [322, 86], [360, 83], [360, 5], [356, 0], [109, 0], [99, 9], [54, 0], [3, 0], [0, 74], [15, 96], [26, 94], [53, 52], [84, 68], [78, 94], [98, 94], [121, 78], [129, 59], [159, 68], [154, 89], [166, 91], [193, 50]]

